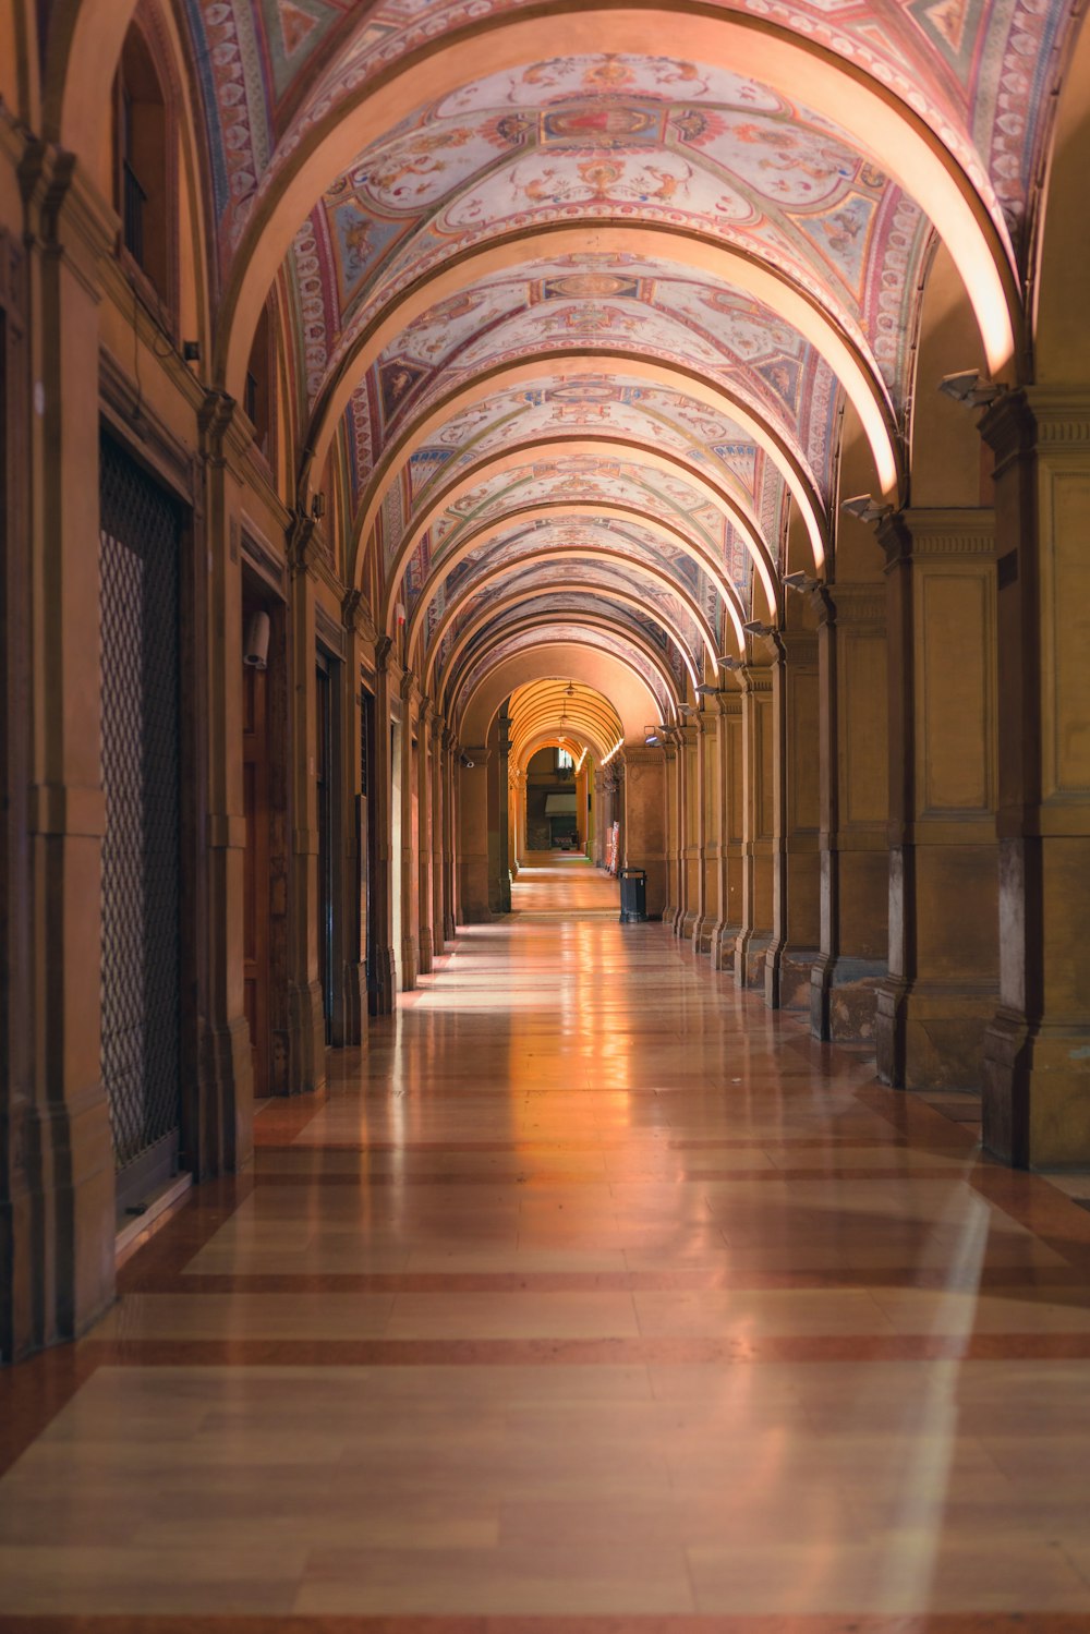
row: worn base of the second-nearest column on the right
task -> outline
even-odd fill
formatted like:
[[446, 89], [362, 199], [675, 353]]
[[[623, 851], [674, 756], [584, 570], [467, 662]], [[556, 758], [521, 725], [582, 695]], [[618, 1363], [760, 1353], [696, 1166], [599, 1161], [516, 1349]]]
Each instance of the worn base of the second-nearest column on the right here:
[[979, 1090], [997, 997], [985, 982], [886, 977], [874, 1018], [879, 1082], [905, 1090]]

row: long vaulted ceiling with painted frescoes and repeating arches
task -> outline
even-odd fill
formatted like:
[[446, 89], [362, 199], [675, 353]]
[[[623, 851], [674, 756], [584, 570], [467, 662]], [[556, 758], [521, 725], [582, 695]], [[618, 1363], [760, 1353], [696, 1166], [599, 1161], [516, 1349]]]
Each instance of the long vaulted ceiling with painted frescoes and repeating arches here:
[[665, 717], [778, 618], [791, 507], [824, 569], [845, 402], [904, 498], [936, 239], [1020, 366], [1057, 5], [185, 8], [221, 382], [275, 289], [297, 503], [332, 458], [345, 578], [454, 716], [583, 644]]

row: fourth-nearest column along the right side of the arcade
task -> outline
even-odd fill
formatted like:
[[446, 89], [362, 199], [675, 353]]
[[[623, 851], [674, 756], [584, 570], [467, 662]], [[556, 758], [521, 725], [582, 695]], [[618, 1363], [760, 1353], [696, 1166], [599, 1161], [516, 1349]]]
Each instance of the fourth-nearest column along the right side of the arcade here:
[[[788, 613], [801, 623], [797, 601]], [[809, 1011], [820, 943], [817, 714], [817, 632], [784, 629], [773, 665], [773, 940], [765, 959], [765, 1000], [775, 1010]]]

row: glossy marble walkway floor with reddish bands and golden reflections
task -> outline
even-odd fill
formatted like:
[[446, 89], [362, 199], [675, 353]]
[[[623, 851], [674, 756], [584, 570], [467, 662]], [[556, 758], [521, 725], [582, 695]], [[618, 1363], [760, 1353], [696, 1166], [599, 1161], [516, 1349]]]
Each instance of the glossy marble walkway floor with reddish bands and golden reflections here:
[[3, 1634], [1085, 1634], [1090, 1214], [515, 907], [0, 1376]]

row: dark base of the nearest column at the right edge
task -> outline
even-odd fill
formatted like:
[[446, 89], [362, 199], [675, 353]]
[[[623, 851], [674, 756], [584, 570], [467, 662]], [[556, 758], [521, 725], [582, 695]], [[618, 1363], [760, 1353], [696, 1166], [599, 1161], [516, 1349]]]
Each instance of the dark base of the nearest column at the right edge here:
[[1090, 1026], [1031, 1028], [1000, 1008], [984, 1034], [982, 1139], [1013, 1168], [1090, 1163]]

